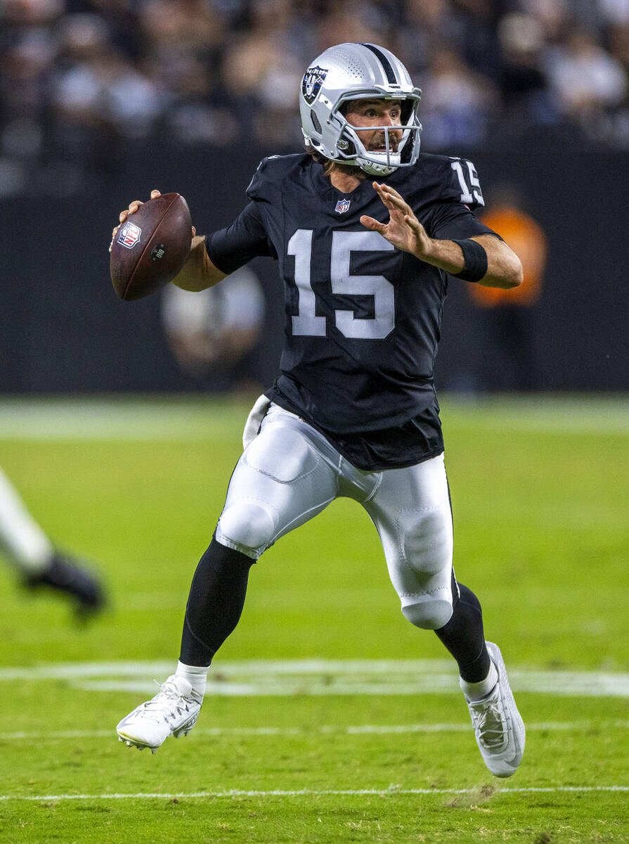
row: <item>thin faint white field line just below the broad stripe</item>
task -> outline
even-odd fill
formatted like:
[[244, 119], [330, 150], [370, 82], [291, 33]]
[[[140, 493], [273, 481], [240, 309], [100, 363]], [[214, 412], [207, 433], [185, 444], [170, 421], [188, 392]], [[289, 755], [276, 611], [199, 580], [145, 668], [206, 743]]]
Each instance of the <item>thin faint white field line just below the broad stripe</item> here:
[[[529, 731], [557, 730], [586, 730], [596, 726], [607, 729], [629, 729], [629, 721], [548, 721], [528, 723]], [[196, 727], [195, 735], [206, 736], [306, 736], [309, 733], [346, 734], [346, 735], [388, 735], [392, 733], [467, 733], [470, 724], [442, 723], [442, 724], [359, 724], [358, 726], [333, 727], [321, 726], [315, 728], [304, 727]], [[109, 730], [55, 730], [50, 733], [0, 733], [0, 741], [22, 741], [37, 739], [38, 741], [56, 738], [115, 738], [113, 728]]]

